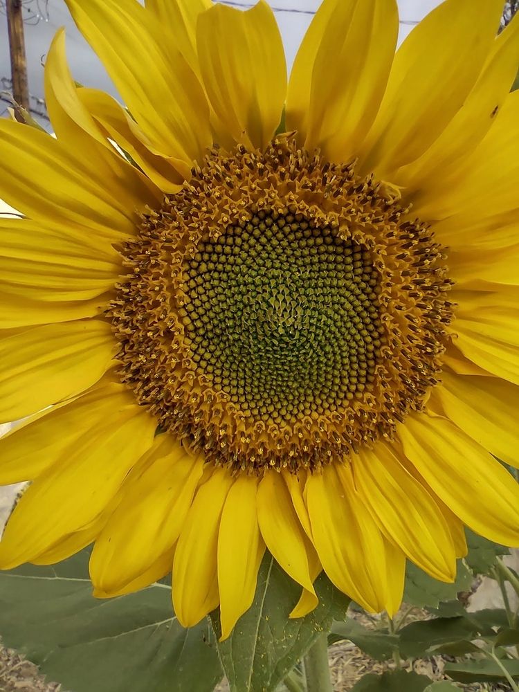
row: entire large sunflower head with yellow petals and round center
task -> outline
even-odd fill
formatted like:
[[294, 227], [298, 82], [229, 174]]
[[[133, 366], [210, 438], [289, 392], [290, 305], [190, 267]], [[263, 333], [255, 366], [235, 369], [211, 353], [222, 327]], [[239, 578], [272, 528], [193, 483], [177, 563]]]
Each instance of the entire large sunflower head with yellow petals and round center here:
[[[519, 24], [324, 0], [289, 80], [266, 2], [66, 0], [125, 107], [45, 66], [0, 121], [0, 565], [94, 543], [98, 597], [172, 572], [227, 637], [266, 549], [399, 607], [464, 525], [519, 545]], [[470, 14], [471, 21], [467, 21]], [[497, 458], [496, 458], [497, 457]]]

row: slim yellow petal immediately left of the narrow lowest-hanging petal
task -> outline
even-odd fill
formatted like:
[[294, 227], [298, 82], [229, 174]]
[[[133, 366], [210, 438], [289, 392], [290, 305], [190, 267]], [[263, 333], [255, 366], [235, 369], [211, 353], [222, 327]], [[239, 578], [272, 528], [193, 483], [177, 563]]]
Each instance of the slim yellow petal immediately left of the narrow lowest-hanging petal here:
[[183, 627], [196, 625], [219, 603], [217, 545], [221, 511], [233, 477], [215, 469], [195, 495], [176, 544], [173, 607]]

